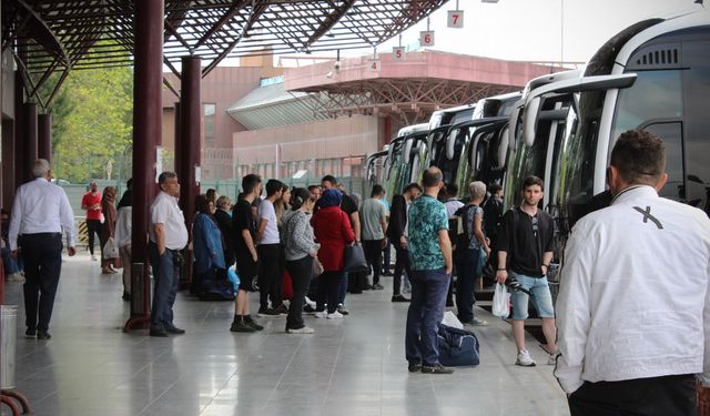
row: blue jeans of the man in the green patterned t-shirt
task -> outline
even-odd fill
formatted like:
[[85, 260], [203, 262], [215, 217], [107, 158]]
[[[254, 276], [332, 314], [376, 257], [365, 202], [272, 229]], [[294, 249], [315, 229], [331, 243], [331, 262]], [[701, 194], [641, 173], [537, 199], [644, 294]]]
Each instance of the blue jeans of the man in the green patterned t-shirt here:
[[439, 364], [437, 333], [444, 318], [450, 276], [444, 268], [412, 271], [412, 303], [407, 312], [405, 353], [409, 363]]

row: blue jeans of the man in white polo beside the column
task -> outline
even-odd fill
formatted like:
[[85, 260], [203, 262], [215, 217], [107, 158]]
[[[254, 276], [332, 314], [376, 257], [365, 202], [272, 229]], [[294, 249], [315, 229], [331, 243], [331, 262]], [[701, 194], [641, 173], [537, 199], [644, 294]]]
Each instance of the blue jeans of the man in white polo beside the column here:
[[151, 308], [151, 329], [173, 327], [173, 305], [178, 295], [180, 265], [175, 263], [176, 250], [165, 250], [158, 254], [158, 245], [149, 245], [151, 266], [153, 267], [153, 307]]

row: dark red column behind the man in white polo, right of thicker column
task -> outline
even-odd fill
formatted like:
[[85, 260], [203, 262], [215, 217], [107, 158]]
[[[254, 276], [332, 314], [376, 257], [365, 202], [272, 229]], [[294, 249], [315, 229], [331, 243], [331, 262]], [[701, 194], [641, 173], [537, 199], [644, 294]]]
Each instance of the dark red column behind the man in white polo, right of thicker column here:
[[[202, 59], [199, 57], [182, 58], [182, 79], [180, 82], [180, 132], [175, 133], [175, 171], [181, 180], [180, 205], [185, 214], [187, 230], [192, 230], [195, 213], [195, 196], [200, 194], [197, 172], [200, 171], [200, 136], [202, 132]], [[178, 158], [179, 156], [179, 158]], [[192, 239], [192, 236], [191, 236]], [[185, 270], [181, 286], [190, 283], [192, 277], [192, 256], [185, 256]]]

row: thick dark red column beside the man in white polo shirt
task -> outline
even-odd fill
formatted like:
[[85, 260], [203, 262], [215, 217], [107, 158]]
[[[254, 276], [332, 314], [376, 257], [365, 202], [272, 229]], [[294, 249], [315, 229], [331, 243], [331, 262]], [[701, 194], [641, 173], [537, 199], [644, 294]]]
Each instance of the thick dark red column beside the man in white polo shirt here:
[[162, 134], [164, 0], [135, 4], [135, 72], [133, 82], [133, 210], [131, 239], [131, 317], [124, 331], [150, 322], [148, 220], [155, 195], [155, 143]]

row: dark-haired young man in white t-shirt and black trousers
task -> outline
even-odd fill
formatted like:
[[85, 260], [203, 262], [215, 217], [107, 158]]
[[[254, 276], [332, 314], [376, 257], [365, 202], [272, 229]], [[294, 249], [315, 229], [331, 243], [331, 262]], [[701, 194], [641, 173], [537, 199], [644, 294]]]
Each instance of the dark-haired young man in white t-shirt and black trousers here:
[[[258, 316], [278, 316], [288, 311], [282, 303], [283, 274], [280, 265], [278, 224], [274, 203], [281, 199], [284, 184], [275, 179], [266, 182], [266, 199], [258, 204], [256, 252], [258, 271]], [[271, 298], [271, 307], [268, 300]]]

